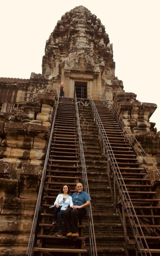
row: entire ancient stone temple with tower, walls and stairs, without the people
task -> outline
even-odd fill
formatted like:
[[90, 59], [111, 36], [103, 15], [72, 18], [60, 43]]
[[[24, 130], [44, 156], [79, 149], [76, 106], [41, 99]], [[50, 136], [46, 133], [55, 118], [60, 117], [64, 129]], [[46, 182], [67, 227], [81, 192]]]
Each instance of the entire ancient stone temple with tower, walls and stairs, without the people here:
[[[160, 255], [160, 133], [149, 122], [157, 106], [124, 91], [100, 19], [83, 6], [66, 12], [46, 41], [42, 74], [1, 77], [0, 94], [0, 255], [28, 253], [44, 171], [27, 255]], [[75, 192], [83, 181], [78, 120], [97, 250], [89, 246], [87, 219], [77, 239], [55, 237], [49, 209], [63, 183]]]

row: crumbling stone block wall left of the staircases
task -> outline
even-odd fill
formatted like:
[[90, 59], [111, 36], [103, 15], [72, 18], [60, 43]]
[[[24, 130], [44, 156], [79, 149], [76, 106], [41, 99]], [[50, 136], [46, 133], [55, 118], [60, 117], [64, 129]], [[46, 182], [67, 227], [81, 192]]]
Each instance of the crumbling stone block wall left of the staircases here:
[[[56, 91], [34, 73], [24, 80], [0, 78], [0, 86], [7, 92], [0, 112], [0, 255], [25, 255]], [[13, 107], [17, 103], [20, 108]]]

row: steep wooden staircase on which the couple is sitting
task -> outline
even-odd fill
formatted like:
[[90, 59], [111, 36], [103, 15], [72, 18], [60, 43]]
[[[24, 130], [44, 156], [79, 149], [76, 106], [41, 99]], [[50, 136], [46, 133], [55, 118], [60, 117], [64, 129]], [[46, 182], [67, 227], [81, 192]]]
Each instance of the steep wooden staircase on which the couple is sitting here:
[[52, 225], [53, 210], [49, 208], [59, 194], [61, 185], [68, 184], [72, 193], [76, 191], [76, 183], [81, 179], [77, 143], [75, 101], [60, 97], [38, 219], [39, 227], [36, 230], [34, 256], [80, 256], [87, 253], [84, 249], [84, 225], [78, 226], [80, 237], [67, 237], [64, 224], [62, 236], [54, 236], [57, 226]]

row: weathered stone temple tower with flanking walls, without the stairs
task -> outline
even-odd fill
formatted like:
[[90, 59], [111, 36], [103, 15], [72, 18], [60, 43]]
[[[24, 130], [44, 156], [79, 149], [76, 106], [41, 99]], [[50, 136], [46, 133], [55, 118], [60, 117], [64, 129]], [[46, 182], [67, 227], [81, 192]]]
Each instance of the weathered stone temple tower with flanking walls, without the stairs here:
[[[42, 74], [0, 78], [0, 255], [26, 252], [59, 84], [65, 97], [101, 99], [104, 89], [124, 124], [159, 168], [156, 104], [140, 103], [115, 77], [113, 47], [99, 18], [83, 6], [66, 12], [46, 42]], [[82, 89], [85, 94], [82, 94]], [[159, 177], [150, 169], [157, 189]]]

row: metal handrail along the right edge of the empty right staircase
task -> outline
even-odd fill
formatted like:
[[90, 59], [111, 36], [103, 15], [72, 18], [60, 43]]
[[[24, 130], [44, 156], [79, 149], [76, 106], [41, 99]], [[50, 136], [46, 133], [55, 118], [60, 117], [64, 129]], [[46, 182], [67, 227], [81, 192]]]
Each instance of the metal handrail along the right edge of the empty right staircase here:
[[[138, 142], [138, 140], [135, 138], [135, 136], [133, 135], [133, 133], [131, 132], [131, 129], [129, 126], [124, 124], [124, 120], [123, 118], [120, 116], [120, 114], [118, 113], [118, 111], [116, 110], [116, 108], [113, 106], [113, 100], [109, 100], [107, 95], [106, 95], [106, 90], [104, 90], [103, 93], [103, 97], [102, 99], [106, 102], [107, 107], [111, 110], [113, 116], [116, 118], [118, 124], [120, 125], [124, 135], [126, 136], [126, 138], [129, 140], [130, 142], [130, 146], [132, 146], [133, 150], [136, 153], [136, 156], [138, 157], [139, 161], [141, 162], [141, 164], [144, 166], [146, 173], [148, 174], [148, 159], [150, 161], [150, 163], [154, 166], [155, 170], [158, 172], [158, 174], [160, 175], [160, 172], [158, 171], [157, 167], [155, 166], [155, 164], [153, 163], [153, 161], [151, 160], [151, 158], [148, 156], [148, 154], [144, 151], [144, 149], [141, 147], [140, 143]], [[135, 142], [137, 143], [137, 145], [135, 144]], [[133, 147], [134, 144], [134, 147]], [[139, 149], [140, 148], [140, 149]], [[141, 151], [140, 151], [141, 150]], [[143, 154], [141, 153], [143, 152]], [[146, 159], [145, 157], [146, 156]], [[142, 161], [143, 159], [143, 161]], [[144, 165], [144, 162], [147, 165]]]

